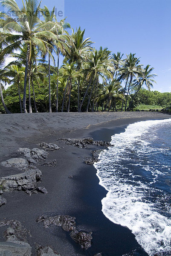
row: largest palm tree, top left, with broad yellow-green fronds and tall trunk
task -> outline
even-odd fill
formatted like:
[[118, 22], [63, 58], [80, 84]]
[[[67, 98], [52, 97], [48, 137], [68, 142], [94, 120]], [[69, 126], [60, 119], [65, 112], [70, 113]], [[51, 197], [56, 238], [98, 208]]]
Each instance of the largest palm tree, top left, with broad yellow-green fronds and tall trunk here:
[[[27, 46], [24, 90], [23, 90], [23, 110], [26, 110], [26, 83], [29, 64], [32, 56], [32, 46], [38, 48], [43, 54], [46, 54], [49, 47], [48, 41], [57, 39], [57, 36], [51, 31], [53, 23], [41, 23], [38, 18], [40, 11], [40, 3], [38, 0], [26, 0], [23, 2], [23, 7], [20, 9], [14, 0], [3, 0], [2, 5], [9, 9], [10, 12], [17, 17], [13, 19], [5, 15], [4, 19], [0, 20], [3, 32], [1, 32], [0, 47], [3, 49], [0, 53], [0, 59], [5, 55], [10, 54], [15, 49], [19, 49], [21, 44]], [[18, 22], [16, 20], [19, 20]]]

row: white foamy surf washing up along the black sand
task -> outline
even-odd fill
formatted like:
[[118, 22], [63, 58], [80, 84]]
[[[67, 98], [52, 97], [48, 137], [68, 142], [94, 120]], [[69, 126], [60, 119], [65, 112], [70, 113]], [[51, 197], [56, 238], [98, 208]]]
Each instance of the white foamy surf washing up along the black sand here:
[[[171, 252], [171, 219], [157, 211], [157, 201], [146, 198], [149, 193], [157, 192], [151, 184], [168, 173], [161, 171], [163, 166], [159, 170], [157, 164], [151, 165], [150, 154], [157, 151], [152, 147], [157, 137], [151, 138], [151, 131], [169, 123], [171, 119], [128, 125], [125, 132], [112, 136], [113, 147], [102, 151], [100, 161], [95, 163], [99, 184], [108, 191], [101, 201], [102, 212], [114, 223], [128, 227], [150, 256]], [[143, 163], [144, 155], [149, 158], [148, 166]], [[134, 160], [138, 163], [133, 163]], [[146, 176], [137, 174], [133, 168], [141, 168]]]

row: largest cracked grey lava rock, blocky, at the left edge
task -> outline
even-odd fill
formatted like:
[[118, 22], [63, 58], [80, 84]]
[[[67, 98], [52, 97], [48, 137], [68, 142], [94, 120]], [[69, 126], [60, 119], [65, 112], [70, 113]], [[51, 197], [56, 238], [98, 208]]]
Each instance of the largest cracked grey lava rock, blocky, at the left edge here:
[[0, 178], [3, 192], [36, 190], [36, 183], [41, 181], [42, 173], [38, 169]]

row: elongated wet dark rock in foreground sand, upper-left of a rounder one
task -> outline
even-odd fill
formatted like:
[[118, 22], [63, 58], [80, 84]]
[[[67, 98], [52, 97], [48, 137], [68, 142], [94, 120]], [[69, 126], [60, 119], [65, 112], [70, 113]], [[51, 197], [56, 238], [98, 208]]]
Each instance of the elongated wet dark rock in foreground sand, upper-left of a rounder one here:
[[76, 227], [75, 217], [68, 215], [42, 215], [36, 219], [37, 222], [43, 222], [44, 227], [49, 227], [51, 224], [60, 226], [65, 231], [74, 230]]

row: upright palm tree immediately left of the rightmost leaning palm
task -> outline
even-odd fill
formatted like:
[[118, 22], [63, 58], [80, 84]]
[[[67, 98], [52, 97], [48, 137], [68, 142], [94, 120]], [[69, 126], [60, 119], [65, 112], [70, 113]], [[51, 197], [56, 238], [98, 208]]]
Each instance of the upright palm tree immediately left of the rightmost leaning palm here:
[[[128, 80], [130, 79], [128, 90], [127, 90], [126, 102], [125, 102], [125, 111], [126, 111], [130, 85], [132, 83], [133, 77], [136, 77], [136, 79], [138, 80], [137, 76], [140, 76], [142, 74], [142, 65], [139, 65], [139, 58], [135, 57], [135, 53], [133, 54], [130, 53], [129, 55], [127, 55], [127, 58], [125, 59], [123, 67], [119, 69], [119, 72], [121, 73], [119, 79], [126, 79], [124, 95], [126, 92]], [[122, 101], [122, 110], [123, 110], [123, 104], [124, 104], [124, 99]]]

